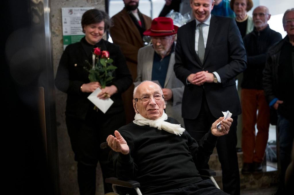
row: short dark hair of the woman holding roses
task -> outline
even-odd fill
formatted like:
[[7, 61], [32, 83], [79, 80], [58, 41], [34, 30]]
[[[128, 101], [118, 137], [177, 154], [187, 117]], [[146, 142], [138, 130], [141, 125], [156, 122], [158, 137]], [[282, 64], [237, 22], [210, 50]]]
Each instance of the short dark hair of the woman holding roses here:
[[98, 9], [89, 9], [83, 14], [81, 25], [84, 28], [86, 25], [100, 23], [101, 21], [104, 21], [104, 31], [112, 27], [112, 21], [107, 13]]

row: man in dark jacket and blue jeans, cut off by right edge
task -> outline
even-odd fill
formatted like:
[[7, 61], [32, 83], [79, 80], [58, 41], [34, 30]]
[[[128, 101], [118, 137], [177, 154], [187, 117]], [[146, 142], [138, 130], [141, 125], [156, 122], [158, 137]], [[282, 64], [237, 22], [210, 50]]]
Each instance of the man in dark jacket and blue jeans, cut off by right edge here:
[[[268, 50], [263, 71], [263, 88], [269, 105], [277, 110], [280, 146], [280, 188], [284, 187], [285, 171], [290, 163], [294, 138], [294, 8], [283, 16], [287, 35]], [[278, 193], [277, 193], [278, 194]], [[281, 194], [286, 194], [283, 191]]]

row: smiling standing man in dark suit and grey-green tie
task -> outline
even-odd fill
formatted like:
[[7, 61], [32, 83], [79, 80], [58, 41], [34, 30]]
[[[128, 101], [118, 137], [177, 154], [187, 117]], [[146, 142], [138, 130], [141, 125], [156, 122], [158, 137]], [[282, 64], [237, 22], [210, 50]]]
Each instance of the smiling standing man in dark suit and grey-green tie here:
[[182, 116], [187, 131], [199, 141], [210, 124], [233, 113], [228, 135], [216, 148], [222, 165], [223, 189], [240, 194], [237, 144], [237, 116], [241, 113], [235, 76], [246, 68], [246, 52], [239, 29], [231, 18], [213, 16], [214, 0], [191, 0], [196, 20], [178, 30], [176, 76], [184, 83]]

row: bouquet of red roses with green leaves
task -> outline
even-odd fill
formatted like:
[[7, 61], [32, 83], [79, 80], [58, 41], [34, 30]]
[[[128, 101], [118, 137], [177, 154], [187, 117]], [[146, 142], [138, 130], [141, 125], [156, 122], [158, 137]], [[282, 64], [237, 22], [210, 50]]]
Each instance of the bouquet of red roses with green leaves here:
[[[93, 61], [92, 69], [87, 69], [85, 67], [89, 72], [88, 78], [91, 82], [99, 82], [101, 88], [105, 88], [106, 85], [113, 80], [113, 72], [117, 67], [112, 65], [113, 59], [109, 58], [109, 52], [101, 51], [99, 47], [93, 50]], [[86, 62], [91, 66], [89, 61]]]

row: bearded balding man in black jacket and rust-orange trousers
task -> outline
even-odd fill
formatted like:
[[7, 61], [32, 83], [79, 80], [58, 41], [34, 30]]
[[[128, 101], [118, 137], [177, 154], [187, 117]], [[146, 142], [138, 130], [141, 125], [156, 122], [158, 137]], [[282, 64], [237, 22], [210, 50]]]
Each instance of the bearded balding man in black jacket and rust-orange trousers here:
[[[262, 72], [268, 48], [282, 39], [280, 33], [270, 29], [269, 19], [270, 13], [267, 7], [255, 8], [254, 30], [243, 39], [248, 63], [241, 83], [243, 174], [262, 171], [261, 163], [268, 141], [270, 115], [262, 88]], [[258, 133], [255, 138], [256, 123]]]

